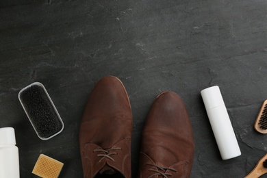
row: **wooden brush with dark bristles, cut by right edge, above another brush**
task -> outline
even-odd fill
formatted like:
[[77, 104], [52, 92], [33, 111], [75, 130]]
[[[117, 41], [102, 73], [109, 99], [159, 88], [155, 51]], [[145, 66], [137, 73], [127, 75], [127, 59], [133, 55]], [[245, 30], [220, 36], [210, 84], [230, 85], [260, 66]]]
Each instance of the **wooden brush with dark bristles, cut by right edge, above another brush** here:
[[254, 128], [259, 133], [267, 133], [267, 100], [262, 103], [262, 107], [255, 120]]

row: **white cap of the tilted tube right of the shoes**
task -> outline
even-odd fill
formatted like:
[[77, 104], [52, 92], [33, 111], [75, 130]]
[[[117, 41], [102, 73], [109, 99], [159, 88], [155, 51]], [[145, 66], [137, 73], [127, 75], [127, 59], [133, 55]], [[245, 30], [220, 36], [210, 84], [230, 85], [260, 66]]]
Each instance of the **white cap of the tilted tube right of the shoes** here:
[[225, 105], [220, 88], [218, 86], [212, 86], [201, 91], [201, 96], [204, 101], [206, 110]]

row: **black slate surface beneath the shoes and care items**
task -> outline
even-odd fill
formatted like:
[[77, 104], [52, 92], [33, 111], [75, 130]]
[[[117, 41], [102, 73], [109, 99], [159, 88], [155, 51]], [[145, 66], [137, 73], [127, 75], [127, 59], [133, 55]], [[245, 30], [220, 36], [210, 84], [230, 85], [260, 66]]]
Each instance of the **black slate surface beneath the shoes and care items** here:
[[[21, 177], [40, 153], [64, 162], [60, 177], [83, 177], [79, 124], [94, 84], [120, 78], [133, 112], [132, 177], [144, 120], [153, 100], [177, 92], [190, 115], [191, 177], [244, 177], [267, 151], [253, 124], [267, 99], [267, 1], [0, 2], [0, 127], [14, 127]], [[18, 92], [39, 81], [64, 121], [51, 140], [38, 138]], [[218, 85], [242, 151], [223, 161], [200, 91]], [[263, 176], [263, 177], [266, 177]]]

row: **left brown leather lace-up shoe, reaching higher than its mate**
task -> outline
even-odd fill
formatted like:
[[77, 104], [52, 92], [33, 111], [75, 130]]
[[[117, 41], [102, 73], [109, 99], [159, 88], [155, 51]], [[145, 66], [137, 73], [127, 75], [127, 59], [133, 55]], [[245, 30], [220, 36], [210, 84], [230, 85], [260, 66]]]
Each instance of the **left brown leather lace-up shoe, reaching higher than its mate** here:
[[122, 82], [103, 77], [92, 90], [79, 131], [84, 177], [131, 177], [131, 105]]

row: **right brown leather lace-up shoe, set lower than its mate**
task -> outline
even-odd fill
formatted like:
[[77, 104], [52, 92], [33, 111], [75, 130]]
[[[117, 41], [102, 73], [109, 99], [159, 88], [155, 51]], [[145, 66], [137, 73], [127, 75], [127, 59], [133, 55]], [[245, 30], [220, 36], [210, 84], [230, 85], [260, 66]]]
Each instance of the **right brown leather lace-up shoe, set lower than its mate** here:
[[163, 92], [155, 99], [142, 132], [139, 177], [190, 177], [193, 158], [186, 107], [175, 92]]

